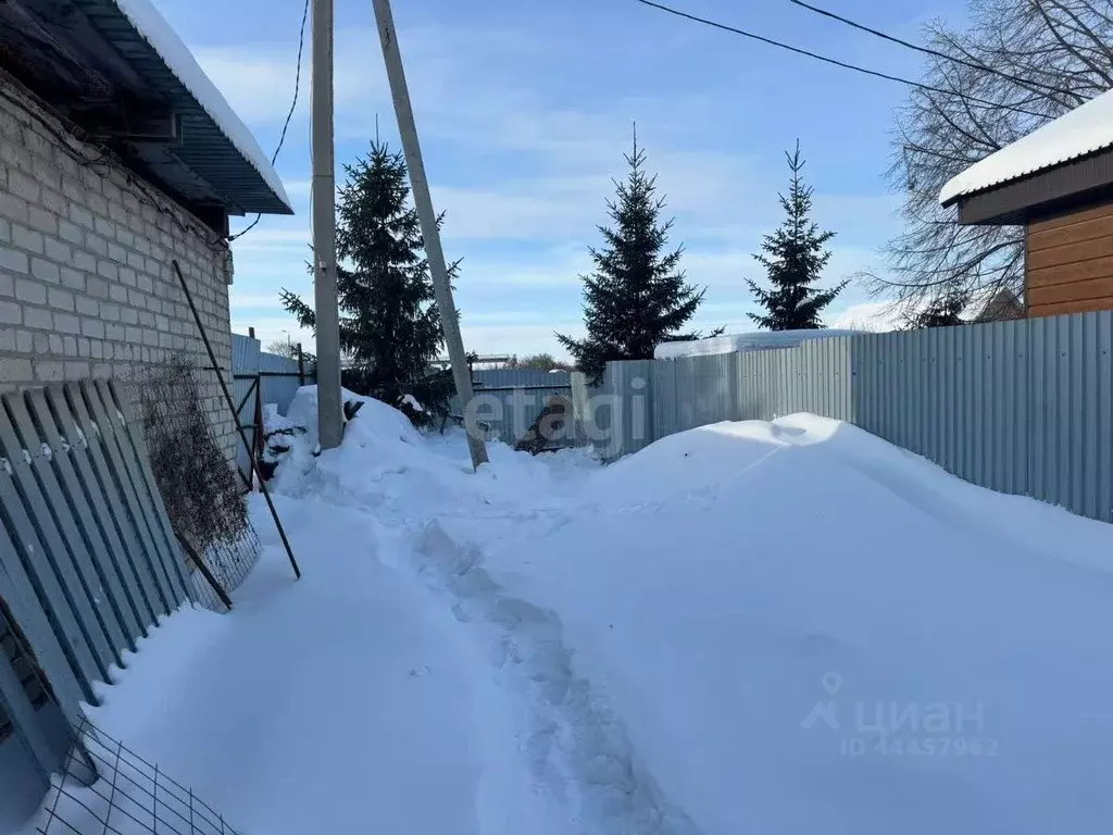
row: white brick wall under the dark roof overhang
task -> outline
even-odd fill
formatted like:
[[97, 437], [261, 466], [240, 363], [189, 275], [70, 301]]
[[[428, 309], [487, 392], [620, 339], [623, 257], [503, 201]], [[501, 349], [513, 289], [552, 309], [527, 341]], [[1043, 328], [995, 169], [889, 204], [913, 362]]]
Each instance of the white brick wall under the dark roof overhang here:
[[[7, 78], [0, 98], [0, 393], [93, 377], [127, 380], [189, 353], [209, 366], [178, 259], [217, 360], [230, 381], [226, 245], [189, 212], [61, 126]], [[75, 157], [75, 153], [77, 157]], [[216, 375], [205, 409], [229, 460], [235, 426]]]

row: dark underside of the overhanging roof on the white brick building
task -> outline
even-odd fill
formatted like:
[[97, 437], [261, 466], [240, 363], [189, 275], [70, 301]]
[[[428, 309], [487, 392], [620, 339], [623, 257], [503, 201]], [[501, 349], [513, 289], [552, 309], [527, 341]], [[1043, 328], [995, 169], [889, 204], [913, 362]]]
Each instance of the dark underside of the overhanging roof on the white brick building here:
[[293, 214], [114, 0], [0, 2], [0, 60], [195, 210]]

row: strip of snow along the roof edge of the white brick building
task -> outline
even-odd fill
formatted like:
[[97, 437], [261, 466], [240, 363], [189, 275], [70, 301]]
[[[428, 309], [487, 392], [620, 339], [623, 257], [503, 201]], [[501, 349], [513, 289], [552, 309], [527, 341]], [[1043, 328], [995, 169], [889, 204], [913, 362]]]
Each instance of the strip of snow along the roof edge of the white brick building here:
[[248, 130], [243, 120], [236, 116], [235, 110], [225, 100], [224, 96], [216, 88], [209, 77], [205, 75], [194, 58], [189, 48], [183, 43], [178, 33], [170, 28], [166, 19], [150, 0], [112, 0], [117, 8], [124, 12], [125, 17], [131, 21], [131, 26], [142, 38], [150, 43], [158, 56], [166, 62], [169, 70], [177, 77], [189, 94], [197, 99], [205, 112], [209, 115], [220, 132], [228, 141], [235, 146], [236, 150], [252, 165], [259, 176], [266, 180], [270, 189], [286, 204], [289, 205], [289, 197], [283, 186], [282, 178], [270, 165], [269, 158], [263, 153], [255, 136]]

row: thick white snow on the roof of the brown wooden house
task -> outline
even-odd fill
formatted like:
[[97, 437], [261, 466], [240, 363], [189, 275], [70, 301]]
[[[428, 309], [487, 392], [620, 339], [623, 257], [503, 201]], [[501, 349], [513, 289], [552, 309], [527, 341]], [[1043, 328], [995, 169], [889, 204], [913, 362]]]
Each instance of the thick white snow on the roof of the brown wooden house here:
[[1113, 146], [1113, 90], [1092, 98], [951, 178], [944, 206], [964, 195], [1020, 179]]

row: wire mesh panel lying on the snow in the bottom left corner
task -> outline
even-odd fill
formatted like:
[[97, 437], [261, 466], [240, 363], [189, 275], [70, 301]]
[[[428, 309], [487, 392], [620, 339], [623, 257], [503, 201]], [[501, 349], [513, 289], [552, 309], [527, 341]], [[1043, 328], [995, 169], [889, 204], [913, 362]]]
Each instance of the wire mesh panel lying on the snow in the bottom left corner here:
[[193, 789], [88, 720], [35, 821], [42, 835], [235, 835]]

